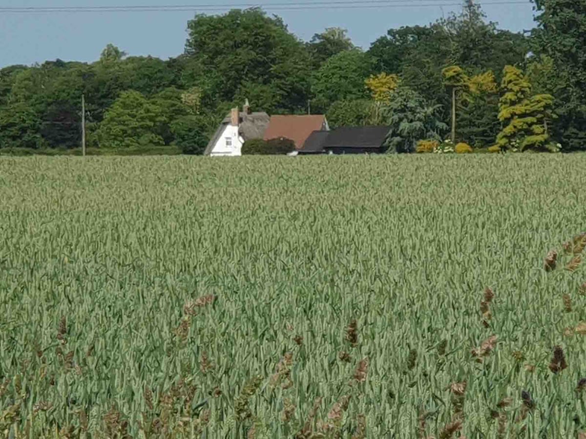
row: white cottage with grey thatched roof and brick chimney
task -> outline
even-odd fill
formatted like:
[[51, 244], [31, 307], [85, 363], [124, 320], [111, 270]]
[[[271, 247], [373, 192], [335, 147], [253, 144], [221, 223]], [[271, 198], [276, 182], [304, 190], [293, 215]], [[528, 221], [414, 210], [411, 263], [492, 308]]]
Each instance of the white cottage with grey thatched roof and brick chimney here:
[[265, 112], [251, 112], [248, 100], [242, 109], [233, 108], [222, 121], [203, 153], [206, 156], [241, 156], [246, 140], [262, 139], [270, 116]]

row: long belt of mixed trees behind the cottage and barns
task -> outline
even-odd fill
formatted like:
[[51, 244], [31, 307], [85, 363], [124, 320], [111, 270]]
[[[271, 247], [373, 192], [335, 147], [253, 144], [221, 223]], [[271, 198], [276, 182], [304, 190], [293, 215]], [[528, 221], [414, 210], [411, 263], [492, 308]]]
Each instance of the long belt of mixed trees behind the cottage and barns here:
[[390, 29], [369, 49], [338, 28], [303, 42], [262, 9], [196, 15], [178, 57], [47, 61], [0, 70], [0, 148], [73, 149], [81, 96], [90, 148], [203, 152], [229, 109], [388, 125], [389, 146], [422, 140], [492, 150], [586, 150], [584, 2], [535, 0], [536, 26], [514, 33], [466, 0], [427, 26]]

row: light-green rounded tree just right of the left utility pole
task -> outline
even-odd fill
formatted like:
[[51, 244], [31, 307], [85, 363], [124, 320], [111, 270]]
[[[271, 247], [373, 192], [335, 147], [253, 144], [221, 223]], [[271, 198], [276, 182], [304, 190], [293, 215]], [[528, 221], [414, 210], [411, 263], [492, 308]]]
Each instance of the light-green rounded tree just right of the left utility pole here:
[[105, 148], [164, 145], [159, 134], [167, 119], [161, 108], [138, 91], [125, 91], [104, 116], [96, 137]]

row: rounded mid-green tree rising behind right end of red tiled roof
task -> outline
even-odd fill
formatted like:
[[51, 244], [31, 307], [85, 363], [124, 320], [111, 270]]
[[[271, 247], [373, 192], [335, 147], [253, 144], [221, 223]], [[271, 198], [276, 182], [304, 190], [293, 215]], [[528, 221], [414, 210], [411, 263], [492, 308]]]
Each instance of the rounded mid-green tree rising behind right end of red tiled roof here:
[[371, 59], [362, 50], [332, 56], [312, 77], [312, 107], [325, 111], [335, 101], [367, 98], [364, 81], [371, 71]]

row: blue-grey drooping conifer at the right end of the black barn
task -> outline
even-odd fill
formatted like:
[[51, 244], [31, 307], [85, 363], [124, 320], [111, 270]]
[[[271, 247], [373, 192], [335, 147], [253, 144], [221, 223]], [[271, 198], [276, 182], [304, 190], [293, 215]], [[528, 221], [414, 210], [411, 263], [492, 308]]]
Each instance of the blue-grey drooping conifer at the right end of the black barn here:
[[440, 139], [448, 126], [440, 121], [440, 105], [429, 104], [417, 92], [399, 87], [384, 107], [386, 124], [390, 126], [387, 152], [415, 152], [417, 142]]

